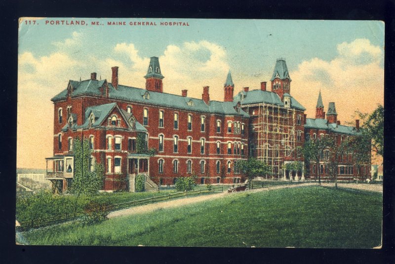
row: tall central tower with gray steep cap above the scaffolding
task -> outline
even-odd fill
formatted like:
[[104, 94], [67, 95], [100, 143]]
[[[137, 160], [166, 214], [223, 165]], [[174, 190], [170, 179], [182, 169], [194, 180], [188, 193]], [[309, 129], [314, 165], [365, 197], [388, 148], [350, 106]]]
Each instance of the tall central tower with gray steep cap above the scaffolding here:
[[272, 78], [272, 92], [278, 94], [283, 100], [284, 93], [291, 94], [291, 78], [289, 77], [287, 64], [284, 59], [277, 59]]

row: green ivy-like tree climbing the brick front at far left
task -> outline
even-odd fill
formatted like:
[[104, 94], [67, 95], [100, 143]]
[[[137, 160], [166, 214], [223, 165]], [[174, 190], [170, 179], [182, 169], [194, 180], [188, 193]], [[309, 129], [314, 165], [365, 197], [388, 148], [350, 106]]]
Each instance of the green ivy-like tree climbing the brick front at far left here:
[[74, 214], [77, 212], [78, 199], [81, 194], [94, 194], [103, 185], [104, 168], [96, 162], [94, 170], [90, 171], [89, 140], [76, 138], [73, 145], [74, 151], [74, 178], [70, 192], [76, 195]]

